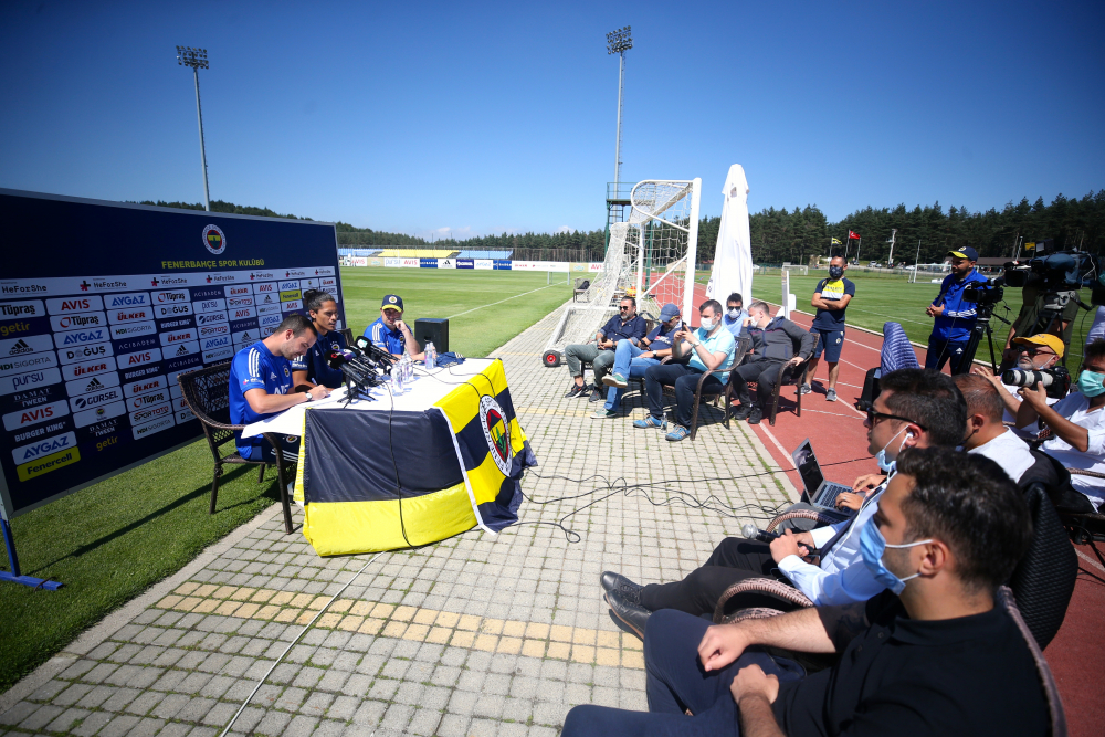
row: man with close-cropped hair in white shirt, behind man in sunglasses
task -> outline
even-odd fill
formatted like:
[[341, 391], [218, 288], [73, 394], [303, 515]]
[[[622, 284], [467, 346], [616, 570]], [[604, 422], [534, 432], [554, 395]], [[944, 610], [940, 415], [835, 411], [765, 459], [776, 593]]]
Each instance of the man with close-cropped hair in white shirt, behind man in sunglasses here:
[[1004, 404], [1001, 390], [981, 376], [960, 373], [953, 377], [967, 401], [967, 436], [964, 449], [985, 455], [1000, 465], [1013, 483], [1035, 465], [1028, 443], [1001, 422]]

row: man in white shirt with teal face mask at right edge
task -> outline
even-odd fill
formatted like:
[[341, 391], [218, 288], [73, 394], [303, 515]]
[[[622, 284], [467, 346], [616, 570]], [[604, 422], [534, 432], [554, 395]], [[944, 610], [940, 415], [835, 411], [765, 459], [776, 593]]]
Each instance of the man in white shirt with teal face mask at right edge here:
[[[1036, 419], [1051, 429], [1041, 450], [1069, 468], [1105, 472], [1105, 340], [1086, 346], [1078, 373], [1078, 391], [1049, 407], [1042, 385], [1021, 389], [1017, 427], [1023, 428]], [[1071, 484], [1082, 498], [1062, 505], [1072, 512], [1096, 512], [1105, 501], [1105, 478], [1071, 474]]]

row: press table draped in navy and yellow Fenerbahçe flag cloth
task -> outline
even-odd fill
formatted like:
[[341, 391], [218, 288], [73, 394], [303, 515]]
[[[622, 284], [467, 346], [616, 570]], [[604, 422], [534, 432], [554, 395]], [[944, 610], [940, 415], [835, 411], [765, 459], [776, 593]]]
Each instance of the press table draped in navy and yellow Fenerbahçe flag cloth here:
[[345, 404], [346, 388], [254, 422], [243, 436], [299, 435], [294, 497], [319, 555], [425, 545], [517, 522], [519, 481], [536, 465], [502, 361], [415, 369]]

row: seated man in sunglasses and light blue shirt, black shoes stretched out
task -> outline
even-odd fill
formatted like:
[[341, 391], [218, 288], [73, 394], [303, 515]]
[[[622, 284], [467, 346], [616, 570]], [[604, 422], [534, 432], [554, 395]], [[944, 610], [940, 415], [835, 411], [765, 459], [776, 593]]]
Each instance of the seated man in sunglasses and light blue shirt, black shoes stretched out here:
[[[902, 369], [883, 377], [882, 391], [867, 411], [867, 452], [880, 465], [893, 470], [894, 459], [906, 448], [955, 448], [962, 442], [967, 409], [951, 377], [926, 369]], [[878, 507], [885, 477], [871, 482], [864, 505], [851, 519], [809, 533], [790, 530], [770, 545], [729, 537], [714, 549], [701, 568], [682, 581], [640, 586], [624, 576], [607, 571], [599, 582], [614, 615], [634, 631], [644, 632], [649, 615], [657, 609], [678, 609], [690, 614], [713, 613], [722, 593], [747, 578], [772, 577], [806, 594], [814, 604], [866, 601], [883, 590], [860, 554], [860, 531]], [[881, 483], [880, 483], [881, 482]], [[812, 549], [820, 565], [803, 560]]]

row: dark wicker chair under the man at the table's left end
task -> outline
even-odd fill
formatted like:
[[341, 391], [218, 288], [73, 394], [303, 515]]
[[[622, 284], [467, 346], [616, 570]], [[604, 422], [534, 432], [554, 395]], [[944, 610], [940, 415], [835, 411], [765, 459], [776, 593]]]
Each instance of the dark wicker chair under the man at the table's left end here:
[[[211, 482], [211, 508], [214, 514], [219, 499], [219, 480], [222, 477], [223, 465], [259, 465], [257, 483], [265, 478], [265, 462], [250, 461], [239, 455], [231, 444], [231, 452], [224, 453], [221, 448], [228, 441], [233, 443], [234, 431], [245, 425], [230, 424], [230, 361], [215, 364], [198, 371], [181, 373], [177, 378], [180, 391], [183, 393], [188, 409], [199, 419], [207, 436], [208, 446], [214, 459], [214, 478]], [[284, 460], [281, 443], [274, 433], [264, 433], [264, 438], [276, 451], [276, 476], [280, 483], [280, 501], [284, 508], [284, 531], [292, 534], [292, 508], [288, 504], [287, 484], [294, 478], [293, 470], [298, 459]]]

